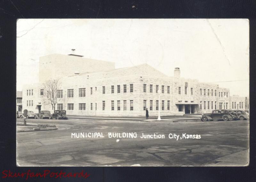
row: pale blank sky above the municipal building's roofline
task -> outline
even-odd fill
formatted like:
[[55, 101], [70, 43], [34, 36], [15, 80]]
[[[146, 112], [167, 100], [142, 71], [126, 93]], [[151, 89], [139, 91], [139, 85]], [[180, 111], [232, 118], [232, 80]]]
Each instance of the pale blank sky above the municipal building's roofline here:
[[39, 80], [39, 57], [52, 53], [147, 63], [168, 76], [217, 83], [249, 96], [247, 19], [19, 19], [17, 91]]

